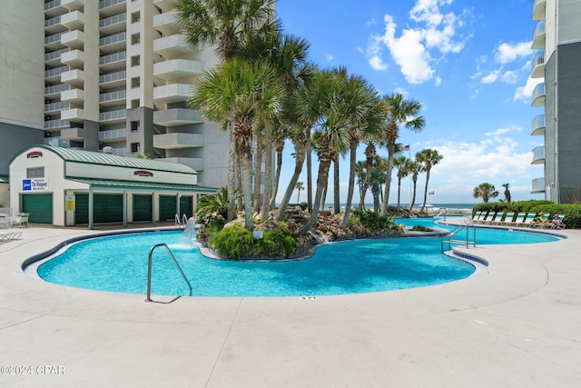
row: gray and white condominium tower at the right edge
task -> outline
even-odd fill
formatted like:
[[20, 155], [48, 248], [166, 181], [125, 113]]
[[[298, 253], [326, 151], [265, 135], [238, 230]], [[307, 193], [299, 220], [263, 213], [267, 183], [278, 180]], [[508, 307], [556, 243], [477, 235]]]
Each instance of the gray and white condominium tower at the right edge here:
[[544, 136], [533, 150], [533, 164], [545, 176], [533, 181], [532, 193], [556, 203], [581, 200], [581, 1], [535, 0], [538, 20], [532, 48], [537, 49], [532, 77], [545, 78], [533, 92], [533, 106], [544, 108], [533, 120], [532, 134]]

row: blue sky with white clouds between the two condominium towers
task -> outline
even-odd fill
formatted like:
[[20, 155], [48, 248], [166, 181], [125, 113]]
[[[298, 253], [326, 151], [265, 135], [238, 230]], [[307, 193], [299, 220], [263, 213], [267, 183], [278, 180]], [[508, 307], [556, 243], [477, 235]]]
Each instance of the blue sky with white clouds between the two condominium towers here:
[[[510, 184], [513, 200], [543, 199], [530, 194], [531, 181], [543, 176], [542, 165], [530, 164], [532, 149], [543, 144], [542, 136], [530, 135], [532, 120], [543, 114], [530, 106], [542, 82], [530, 78], [532, 7], [533, 0], [278, 0], [277, 13], [287, 34], [310, 42], [310, 58], [320, 67], [343, 65], [381, 94], [419, 100], [426, 127], [421, 133], [402, 128], [399, 143], [410, 144], [412, 157], [423, 148], [444, 156], [432, 169], [435, 194], [428, 203], [473, 204], [480, 202], [473, 189], [483, 182], [501, 193], [501, 184]], [[278, 201], [291, 178], [292, 152], [287, 144]], [[340, 165], [344, 202], [348, 159]], [[305, 172], [300, 181], [306, 186]], [[417, 203], [424, 184], [422, 174]], [[402, 182], [402, 198], [409, 199], [409, 186], [409, 179]], [[389, 203], [397, 201], [396, 190], [394, 184]], [[296, 198], [295, 192], [291, 201]]]

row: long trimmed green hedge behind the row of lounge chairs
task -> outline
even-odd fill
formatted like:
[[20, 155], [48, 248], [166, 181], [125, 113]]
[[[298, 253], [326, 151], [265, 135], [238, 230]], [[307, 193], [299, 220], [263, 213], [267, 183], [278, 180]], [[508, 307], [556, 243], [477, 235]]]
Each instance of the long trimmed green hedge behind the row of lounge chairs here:
[[515, 212], [526, 214], [565, 214], [564, 223], [567, 229], [581, 228], [581, 204], [555, 204], [545, 200], [507, 202], [489, 202], [477, 204], [472, 208], [472, 215], [477, 212]]

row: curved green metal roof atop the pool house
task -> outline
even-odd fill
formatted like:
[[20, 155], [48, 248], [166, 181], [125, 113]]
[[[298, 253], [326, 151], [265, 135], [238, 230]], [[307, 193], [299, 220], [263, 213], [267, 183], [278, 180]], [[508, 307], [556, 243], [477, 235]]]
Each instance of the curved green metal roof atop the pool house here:
[[50, 145], [34, 145], [28, 147], [20, 154], [31, 148], [44, 148], [59, 155], [66, 162], [104, 164], [117, 167], [139, 168], [143, 170], [164, 171], [180, 174], [198, 174], [192, 168], [184, 164], [160, 162], [152, 159], [140, 159], [136, 157], [118, 156], [115, 154], [103, 154], [94, 151], [75, 150], [72, 148], [53, 147]]

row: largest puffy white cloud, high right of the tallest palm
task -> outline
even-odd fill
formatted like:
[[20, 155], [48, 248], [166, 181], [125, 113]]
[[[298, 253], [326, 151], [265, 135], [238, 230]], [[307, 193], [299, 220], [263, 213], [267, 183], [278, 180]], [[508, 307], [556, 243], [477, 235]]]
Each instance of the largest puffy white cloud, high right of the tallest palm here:
[[[450, 4], [452, 0], [418, 0], [409, 11], [409, 19], [418, 26], [403, 29], [399, 36], [393, 16], [385, 15], [384, 34], [372, 35], [369, 39], [366, 52], [369, 65], [375, 70], [386, 70], [388, 66], [381, 54], [387, 47], [410, 84], [423, 84], [434, 79], [434, 56], [458, 53], [464, 47], [464, 42], [457, 39], [457, 27], [463, 25], [460, 18], [454, 13], [440, 11], [441, 6]], [[436, 78], [435, 83], [439, 85], [441, 79]]]

